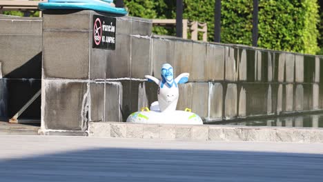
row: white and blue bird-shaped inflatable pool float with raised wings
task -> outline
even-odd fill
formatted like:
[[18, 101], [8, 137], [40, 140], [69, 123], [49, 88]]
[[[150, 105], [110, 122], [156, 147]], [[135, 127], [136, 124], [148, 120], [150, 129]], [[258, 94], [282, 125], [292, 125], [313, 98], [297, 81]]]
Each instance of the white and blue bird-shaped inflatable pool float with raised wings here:
[[173, 67], [166, 63], [161, 68], [161, 81], [153, 76], [146, 75], [146, 79], [158, 85], [158, 101], [150, 105], [150, 109], [141, 108], [141, 111], [130, 114], [127, 122], [151, 124], [187, 124], [202, 125], [202, 119], [190, 109], [176, 110], [179, 97], [178, 84], [186, 83], [189, 74], [182, 73], [174, 79]]

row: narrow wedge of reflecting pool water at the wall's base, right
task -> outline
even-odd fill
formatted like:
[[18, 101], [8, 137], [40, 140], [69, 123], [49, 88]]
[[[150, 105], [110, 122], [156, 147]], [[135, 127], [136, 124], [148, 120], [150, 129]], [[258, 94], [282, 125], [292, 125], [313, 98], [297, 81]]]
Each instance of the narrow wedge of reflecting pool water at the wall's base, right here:
[[255, 119], [248, 121], [235, 121], [226, 123], [214, 123], [215, 125], [249, 125], [249, 126], [278, 126], [278, 127], [302, 127], [323, 128], [322, 114], [306, 114], [295, 117], [279, 117], [273, 119]]

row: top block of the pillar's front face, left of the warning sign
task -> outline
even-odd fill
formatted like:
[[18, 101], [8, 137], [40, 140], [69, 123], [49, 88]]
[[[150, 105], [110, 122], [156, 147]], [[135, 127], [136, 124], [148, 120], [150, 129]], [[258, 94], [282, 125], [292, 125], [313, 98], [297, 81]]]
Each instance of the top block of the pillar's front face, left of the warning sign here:
[[44, 30], [90, 30], [90, 13], [81, 11], [73, 13], [43, 13]]

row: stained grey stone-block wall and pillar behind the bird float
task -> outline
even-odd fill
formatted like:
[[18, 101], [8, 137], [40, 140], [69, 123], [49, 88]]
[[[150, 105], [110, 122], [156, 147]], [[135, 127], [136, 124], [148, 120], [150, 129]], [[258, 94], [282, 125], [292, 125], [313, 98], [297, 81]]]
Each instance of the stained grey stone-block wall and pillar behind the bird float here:
[[[322, 57], [153, 36], [148, 19], [104, 13], [117, 19], [116, 48], [101, 50], [92, 48], [92, 16], [97, 12], [43, 13], [43, 134], [83, 135], [89, 122], [125, 121], [157, 100], [157, 85], [144, 75], [160, 78], [163, 63], [172, 64], [176, 75], [190, 72], [189, 83], [180, 85], [177, 109], [192, 108], [206, 123], [323, 108]], [[0, 39], [10, 37], [3, 34]], [[30, 46], [3, 48], [41, 55], [41, 49], [32, 52]], [[8, 63], [0, 62], [2, 75], [8, 75]], [[0, 96], [10, 98], [8, 93]]]

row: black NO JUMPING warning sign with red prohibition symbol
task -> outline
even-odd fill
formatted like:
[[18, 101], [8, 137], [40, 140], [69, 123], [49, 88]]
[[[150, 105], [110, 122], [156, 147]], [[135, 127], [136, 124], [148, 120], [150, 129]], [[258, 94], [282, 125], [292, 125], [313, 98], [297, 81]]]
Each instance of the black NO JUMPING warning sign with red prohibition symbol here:
[[92, 48], [115, 50], [115, 18], [93, 15]]

